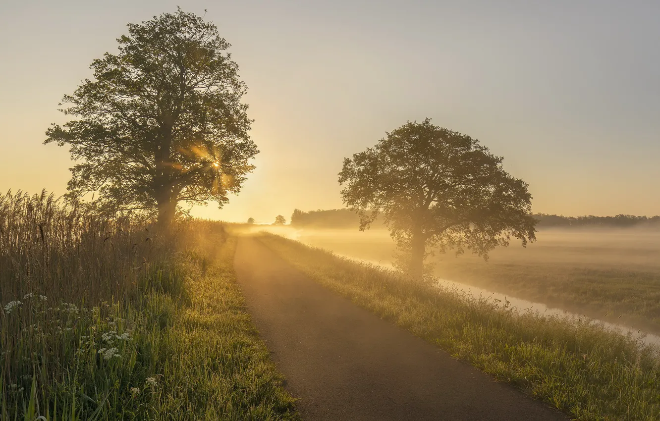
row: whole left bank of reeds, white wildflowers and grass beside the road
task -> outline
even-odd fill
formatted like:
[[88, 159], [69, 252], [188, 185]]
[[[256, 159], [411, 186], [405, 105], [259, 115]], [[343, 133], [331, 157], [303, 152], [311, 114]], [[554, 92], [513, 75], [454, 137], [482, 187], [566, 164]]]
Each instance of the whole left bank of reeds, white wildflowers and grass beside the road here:
[[221, 224], [0, 197], [0, 418], [288, 420]]

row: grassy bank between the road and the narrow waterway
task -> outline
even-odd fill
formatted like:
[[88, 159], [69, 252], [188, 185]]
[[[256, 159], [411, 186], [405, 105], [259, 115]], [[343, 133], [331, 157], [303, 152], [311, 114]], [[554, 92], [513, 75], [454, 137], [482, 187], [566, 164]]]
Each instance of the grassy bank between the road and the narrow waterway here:
[[279, 236], [259, 240], [354, 303], [574, 418], [660, 418], [657, 348], [587, 319], [520, 313]]

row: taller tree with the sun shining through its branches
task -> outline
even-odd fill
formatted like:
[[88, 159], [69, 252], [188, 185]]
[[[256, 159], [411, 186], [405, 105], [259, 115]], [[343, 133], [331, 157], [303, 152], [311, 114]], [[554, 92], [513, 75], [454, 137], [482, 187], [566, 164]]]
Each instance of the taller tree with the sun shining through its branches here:
[[93, 80], [64, 96], [61, 111], [76, 118], [46, 132], [45, 143], [69, 146], [77, 161], [70, 195], [96, 192], [113, 211], [157, 210], [163, 225], [180, 201], [222, 207], [259, 152], [230, 44], [181, 9], [128, 24], [117, 42], [117, 53], [92, 61]]

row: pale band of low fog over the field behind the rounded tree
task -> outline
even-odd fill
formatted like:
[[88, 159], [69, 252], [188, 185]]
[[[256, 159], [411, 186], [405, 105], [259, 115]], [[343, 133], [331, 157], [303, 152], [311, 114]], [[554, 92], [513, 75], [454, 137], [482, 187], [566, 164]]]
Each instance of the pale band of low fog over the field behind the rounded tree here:
[[[352, 259], [390, 265], [396, 245], [383, 229], [364, 232], [349, 229], [296, 229], [288, 226], [257, 226], [265, 230], [321, 247]], [[463, 261], [484, 263], [469, 253], [456, 256], [448, 251], [429, 258], [442, 265]], [[660, 230], [647, 228], [545, 229], [537, 241], [522, 247], [513, 242], [490, 252], [488, 263], [570, 264], [609, 269], [660, 269]], [[487, 264], [487, 263], [484, 263]], [[437, 275], [442, 276], [442, 273]]]

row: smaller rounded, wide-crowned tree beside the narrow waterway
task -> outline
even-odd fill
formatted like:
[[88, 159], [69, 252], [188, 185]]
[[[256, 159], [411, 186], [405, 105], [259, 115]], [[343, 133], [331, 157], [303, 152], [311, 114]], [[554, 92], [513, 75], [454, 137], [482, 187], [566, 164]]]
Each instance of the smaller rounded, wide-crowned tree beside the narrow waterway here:
[[527, 183], [502, 168], [502, 158], [477, 139], [416, 121], [376, 146], [345, 158], [339, 173], [344, 203], [364, 230], [384, 215], [402, 266], [421, 278], [429, 249], [469, 249], [484, 258], [511, 238], [535, 240]]

